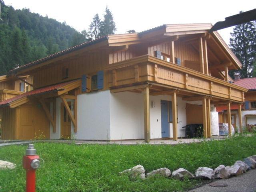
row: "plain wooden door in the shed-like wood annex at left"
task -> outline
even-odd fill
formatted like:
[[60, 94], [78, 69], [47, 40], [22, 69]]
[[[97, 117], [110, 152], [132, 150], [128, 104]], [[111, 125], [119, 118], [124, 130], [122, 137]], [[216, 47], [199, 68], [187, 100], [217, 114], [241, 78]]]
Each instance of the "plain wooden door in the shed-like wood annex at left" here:
[[20, 108], [20, 130], [18, 139], [34, 139], [34, 108], [31, 104], [24, 104]]

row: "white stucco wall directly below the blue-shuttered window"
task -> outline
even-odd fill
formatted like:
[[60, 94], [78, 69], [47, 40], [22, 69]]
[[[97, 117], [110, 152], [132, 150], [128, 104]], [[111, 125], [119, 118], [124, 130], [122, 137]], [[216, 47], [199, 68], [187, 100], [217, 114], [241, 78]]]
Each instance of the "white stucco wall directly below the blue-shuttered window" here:
[[84, 140], [110, 140], [110, 91], [80, 94], [78, 129], [73, 136]]

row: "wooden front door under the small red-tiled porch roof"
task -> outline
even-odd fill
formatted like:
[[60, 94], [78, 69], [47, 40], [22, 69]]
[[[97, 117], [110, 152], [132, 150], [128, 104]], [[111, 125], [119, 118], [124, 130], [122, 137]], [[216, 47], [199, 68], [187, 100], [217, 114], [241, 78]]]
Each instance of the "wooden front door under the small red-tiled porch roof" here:
[[[68, 102], [68, 106], [70, 108], [71, 103]], [[68, 116], [68, 112], [66, 108], [64, 107], [64, 104], [61, 103], [61, 112], [60, 112], [60, 137], [64, 139], [70, 139], [71, 136], [71, 120]]]

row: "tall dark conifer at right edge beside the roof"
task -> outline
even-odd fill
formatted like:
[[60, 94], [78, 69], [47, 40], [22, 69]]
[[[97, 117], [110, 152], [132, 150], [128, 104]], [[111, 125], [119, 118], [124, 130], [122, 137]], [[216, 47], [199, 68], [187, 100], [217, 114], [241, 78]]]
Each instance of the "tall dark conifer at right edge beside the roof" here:
[[230, 34], [231, 49], [242, 63], [240, 75], [250, 78], [256, 60], [256, 23], [252, 21], [237, 25]]

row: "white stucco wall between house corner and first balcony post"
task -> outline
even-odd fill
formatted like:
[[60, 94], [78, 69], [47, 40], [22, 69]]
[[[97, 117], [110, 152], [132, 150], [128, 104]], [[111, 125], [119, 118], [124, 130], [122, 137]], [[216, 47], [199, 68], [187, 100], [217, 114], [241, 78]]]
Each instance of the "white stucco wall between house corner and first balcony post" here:
[[110, 138], [144, 138], [143, 95], [132, 92], [110, 94]]

